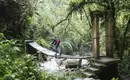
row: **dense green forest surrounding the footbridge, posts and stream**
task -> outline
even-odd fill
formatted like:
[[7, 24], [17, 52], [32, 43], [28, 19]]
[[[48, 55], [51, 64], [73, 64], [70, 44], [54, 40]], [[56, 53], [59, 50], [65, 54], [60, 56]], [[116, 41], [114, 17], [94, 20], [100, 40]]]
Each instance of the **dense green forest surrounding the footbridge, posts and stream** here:
[[[91, 12], [99, 11], [100, 53], [105, 55], [105, 15], [114, 22], [114, 57], [119, 74], [130, 76], [130, 0], [0, 0], [0, 80], [70, 80], [74, 73], [49, 75], [25, 51], [25, 40], [49, 48], [61, 39], [61, 53], [90, 55]], [[73, 53], [73, 54], [72, 54]], [[66, 76], [66, 77], [64, 77]], [[116, 79], [115, 79], [116, 80]]]

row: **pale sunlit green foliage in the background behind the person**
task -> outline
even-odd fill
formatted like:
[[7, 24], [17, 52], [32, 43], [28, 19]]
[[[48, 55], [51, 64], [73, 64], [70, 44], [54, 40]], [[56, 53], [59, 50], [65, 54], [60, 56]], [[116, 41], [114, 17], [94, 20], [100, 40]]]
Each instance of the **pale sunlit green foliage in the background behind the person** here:
[[[58, 36], [61, 39], [61, 42], [67, 42], [67, 47], [61, 45], [64, 53], [66, 53], [66, 50], [69, 50], [71, 52], [73, 51], [80, 52], [82, 51], [79, 50], [81, 49], [80, 47], [83, 44], [87, 44], [88, 46], [91, 46], [90, 43], [92, 40], [91, 30], [89, 29], [90, 28], [89, 20], [91, 19], [89, 17], [89, 10], [86, 7], [85, 7], [85, 11], [87, 13], [86, 15], [84, 14], [83, 11], [82, 11], [83, 15], [81, 15], [79, 10], [79, 13], [77, 14], [74, 13], [72, 14], [72, 16], [70, 15], [68, 19], [66, 19], [61, 24], [57, 25], [54, 31], [52, 31], [53, 30], [52, 26], [66, 17], [68, 13], [68, 7], [70, 7], [70, 5], [73, 5], [71, 4], [71, 2], [74, 3], [75, 6], [77, 5], [81, 7], [82, 10], [83, 5], [81, 4], [83, 0], [77, 0], [77, 1], [42, 0], [39, 3], [39, 5], [37, 5], [37, 10], [36, 10], [37, 13], [34, 14], [34, 20], [35, 20], [34, 24], [37, 25], [37, 33], [36, 33], [37, 38], [41, 37], [47, 41], [50, 41], [51, 37]], [[65, 4], [70, 4], [70, 5], [65, 5]], [[72, 9], [72, 7], [70, 8]], [[86, 18], [86, 16], [88, 16], [88, 18]]]

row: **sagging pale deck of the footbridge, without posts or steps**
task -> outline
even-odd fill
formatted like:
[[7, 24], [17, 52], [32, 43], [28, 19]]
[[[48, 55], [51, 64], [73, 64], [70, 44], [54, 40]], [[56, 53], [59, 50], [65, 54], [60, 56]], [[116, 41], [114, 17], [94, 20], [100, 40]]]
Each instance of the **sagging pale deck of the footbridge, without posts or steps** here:
[[[47, 48], [43, 48], [39, 44], [37, 44], [35, 41], [27, 40], [26, 41], [26, 49], [30, 54], [35, 54], [37, 51], [40, 51], [41, 53], [55, 57], [56, 52], [49, 50]], [[86, 59], [86, 58], [92, 58], [91, 56], [71, 56], [71, 55], [60, 55], [58, 58], [68, 58], [68, 59]]]

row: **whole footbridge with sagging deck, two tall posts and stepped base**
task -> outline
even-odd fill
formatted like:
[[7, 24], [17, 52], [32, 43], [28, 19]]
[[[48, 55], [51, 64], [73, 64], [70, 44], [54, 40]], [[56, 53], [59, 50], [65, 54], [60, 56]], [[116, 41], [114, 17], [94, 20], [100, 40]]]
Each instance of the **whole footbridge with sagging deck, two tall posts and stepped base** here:
[[[91, 23], [92, 23], [92, 54], [93, 58], [91, 58], [91, 66], [90, 68], [87, 68], [84, 72], [84, 74], [87, 77], [93, 77], [95, 79], [100, 80], [111, 80], [113, 77], [118, 77], [119, 80], [120, 77], [118, 75], [118, 63], [119, 59], [114, 59], [114, 21], [113, 21], [113, 14], [112, 10], [107, 10], [107, 13], [105, 14], [106, 17], [106, 56], [101, 57], [100, 56], [100, 46], [99, 46], [99, 17], [101, 15], [100, 11], [92, 11], [91, 12]], [[50, 51], [46, 48], [42, 48], [39, 46], [36, 42], [27, 42], [27, 49], [29, 50], [29, 53], [36, 53], [36, 51], [40, 51], [46, 55], [54, 56], [56, 53], [53, 51]], [[88, 56], [83, 57], [77, 57], [77, 56], [67, 56], [67, 55], [61, 55], [61, 58], [72, 58], [72, 59], [87, 59]], [[105, 65], [103, 67], [102, 65]], [[103, 68], [102, 68], [103, 67]], [[76, 79], [75, 79], [76, 80]], [[78, 79], [78, 80], [92, 80], [92, 79]]]

